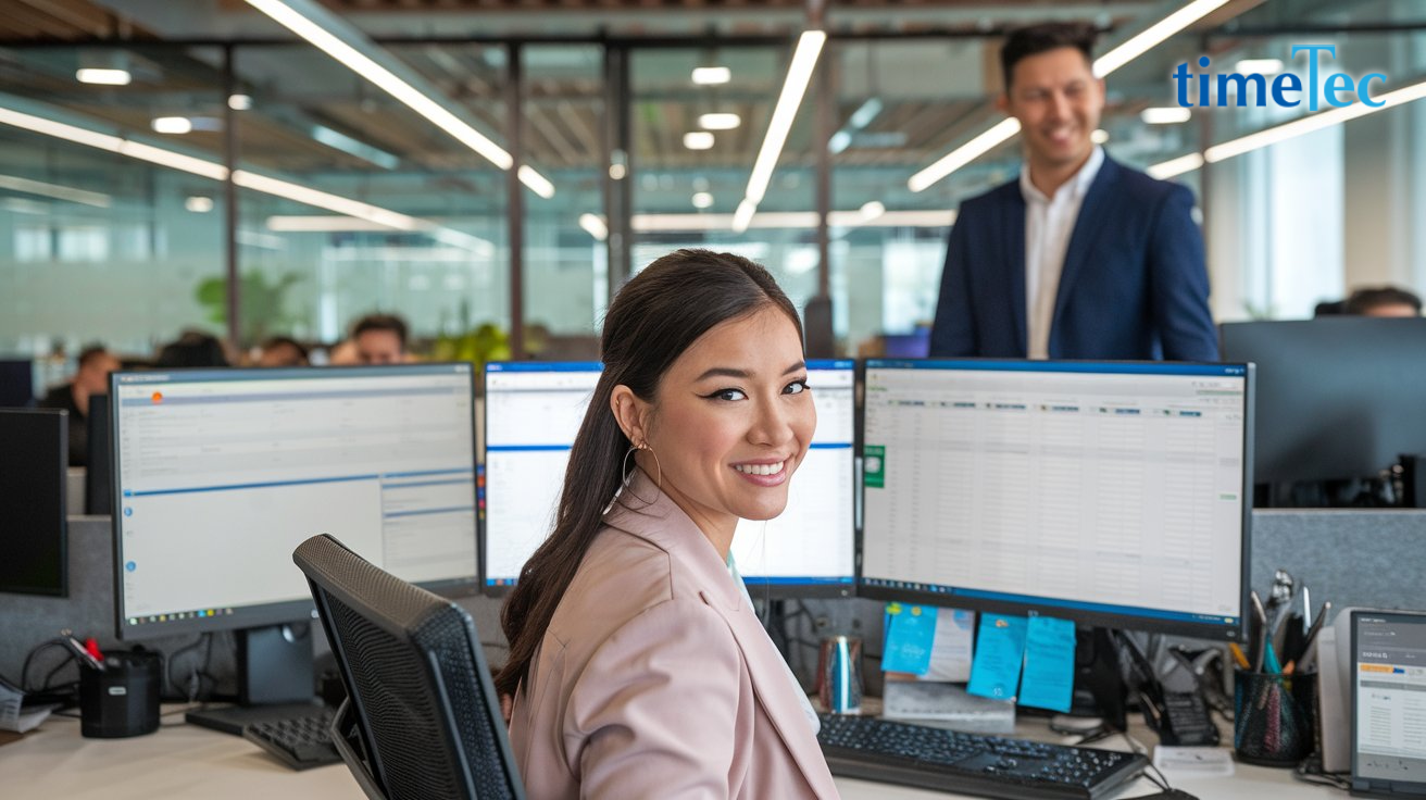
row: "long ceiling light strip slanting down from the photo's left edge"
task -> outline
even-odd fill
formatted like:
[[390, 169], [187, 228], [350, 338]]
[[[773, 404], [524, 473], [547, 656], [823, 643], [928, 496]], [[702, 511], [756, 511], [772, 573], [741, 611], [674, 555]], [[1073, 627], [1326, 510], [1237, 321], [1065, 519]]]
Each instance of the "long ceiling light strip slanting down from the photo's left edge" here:
[[[208, 161], [205, 158], [185, 155], [183, 153], [175, 153], [173, 150], [164, 150], [163, 147], [154, 147], [151, 144], [143, 144], [138, 141], [125, 140], [117, 135], [101, 134], [98, 131], [91, 131], [88, 128], [81, 128], [77, 125], [47, 120], [44, 117], [36, 117], [33, 114], [24, 114], [4, 107], [0, 107], [0, 123], [51, 135], [56, 138], [63, 138], [67, 141], [73, 141], [76, 144], [87, 144], [98, 150], [106, 150], [108, 153], [118, 153], [120, 155], [128, 155], [130, 158], [138, 158], [140, 161], [148, 161], [151, 164], [158, 164], [160, 167], [181, 170], [184, 173], [191, 173], [194, 175], [211, 178], [215, 181], [222, 181], [228, 178], [228, 168], [224, 167], [222, 164], [218, 164], [217, 161]], [[469, 234], [462, 234], [459, 231], [443, 228], [426, 220], [416, 220], [415, 217], [408, 217], [406, 214], [399, 214], [396, 211], [389, 211], [386, 208], [379, 208], [376, 205], [369, 205], [366, 202], [359, 202], [356, 200], [351, 200], [347, 197], [328, 194], [325, 191], [317, 191], [314, 188], [294, 184], [291, 181], [284, 181], [268, 175], [258, 175], [255, 173], [248, 173], [245, 170], [235, 170], [232, 173], [232, 183], [244, 188], [251, 188], [254, 191], [261, 191], [264, 194], [282, 197], [287, 200], [292, 200], [295, 202], [304, 202], [307, 205], [327, 208], [328, 211], [337, 211], [338, 214], [347, 214], [349, 217], [359, 217], [362, 220], [369, 220], [378, 225], [384, 225], [385, 228], [395, 228], [399, 231], [425, 231], [441, 241], [461, 242], [463, 247], [469, 247], [478, 254], [488, 255], [495, 252], [495, 245], [482, 238], [472, 237]]]

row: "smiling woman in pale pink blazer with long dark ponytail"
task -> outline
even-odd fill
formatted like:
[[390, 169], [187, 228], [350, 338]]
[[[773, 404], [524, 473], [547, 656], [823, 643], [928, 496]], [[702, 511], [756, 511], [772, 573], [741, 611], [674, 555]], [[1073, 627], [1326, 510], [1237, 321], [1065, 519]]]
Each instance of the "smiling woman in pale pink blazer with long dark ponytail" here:
[[787, 505], [817, 412], [797, 311], [746, 258], [680, 250], [605, 318], [555, 529], [502, 610], [530, 797], [836, 797], [817, 717], [729, 546]]

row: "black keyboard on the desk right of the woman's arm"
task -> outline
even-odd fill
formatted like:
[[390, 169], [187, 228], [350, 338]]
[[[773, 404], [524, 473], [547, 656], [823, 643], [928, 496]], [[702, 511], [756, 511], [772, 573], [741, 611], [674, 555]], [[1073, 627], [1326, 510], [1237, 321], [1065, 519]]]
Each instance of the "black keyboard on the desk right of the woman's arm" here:
[[817, 740], [831, 774], [1007, 800], [1098, 800], [1148, 764], [1134, 753], [840, 714], [821, 714]]

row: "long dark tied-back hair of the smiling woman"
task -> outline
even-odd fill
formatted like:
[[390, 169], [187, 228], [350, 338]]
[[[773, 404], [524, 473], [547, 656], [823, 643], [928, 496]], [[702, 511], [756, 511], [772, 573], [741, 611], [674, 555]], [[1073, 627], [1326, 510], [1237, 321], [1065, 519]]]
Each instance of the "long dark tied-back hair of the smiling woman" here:
[[615, 386], [629, 386], [653, 402], [663, 374], [699, 337], [769, 307], [787, 314], [801, 337], [797, 309], [767, 270], [707, 250], [659, 258], [615, 297], [599, 347], [605, 369], [569, 451], [555, 530], [525, 562], [501, 610], [511, 643], [509, 660], [495, 679], [502, 694], [513, 696], [529, 672], [565, 589], [603, 525], [603, 509], [623, 481], [629, 438], [609, 408]]

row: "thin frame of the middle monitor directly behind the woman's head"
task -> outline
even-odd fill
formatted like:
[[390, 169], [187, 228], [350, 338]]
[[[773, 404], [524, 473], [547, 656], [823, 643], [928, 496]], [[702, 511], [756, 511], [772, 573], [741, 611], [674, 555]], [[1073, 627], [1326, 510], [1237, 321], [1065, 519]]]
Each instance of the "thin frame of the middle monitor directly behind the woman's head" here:
[[[491, 418], [489, 418], [489, 415], [491, 415], [489, 374], [491, 374], [491, 366], [492, 365], [496, 366], [496, 369], [495, 369], [496, 372], [512, 371], [512, 369], [513, 371], [530, 371], [530, 372], [556, 372], [556, 371], [562, 371], [562, 369], [559, 369], [562, 366], [565, 366], [565, 368], [578, 368], [580, 371], [588, 371], [590, 366], [599, 366], [600, 369], [603, 368], [602, 362], [597, 362], [597, 361], [492, 361], [492, 362], [488, 362], [485, 365], [485, 369], [482, 369], [482, 379], [481, 379], [481, 389], [482, 389], [483, 396], [485, 396], [482, 429], [485, 429], [486, 432], [489, 432], [489, 429], [491, 429], [489, 428], [489, 422], [491, 422]], [[820, 366], [814, 366], [814, 365], [820, 365]], [[860, 361], [851, 359], [851, 358], [809, 358], [807, 359], [807, 368], [809, 369], [838, 369], [840, 368], [840, 369], [847, 369], [847, 371], [851, 372], [851, 405], [853, 405], [853, 421], [851, 421], [851, 475], [847, 476], [847, 481], [853, 486], [853, 491], [850, 493], [850, 501], [851, 501], [851, 526], [853, 526], [853, 533], [851, 533], [851, 546], [853, 546], [851, 570], [853, 570], [853, 575], [846, 576], [844, 579], [837, 579], [837, 580], [776, 582], [776, 583], [774, 582], [767, 582], [767, 580], [759, 580], [757, 578], [749, 578], [749, 576], [744, 575], [743, 576], [743, 583], [747, 586], [749, 595], [752, 595], [754, 598], [759, 598], [759, 599], [770, 599], [770, 600], [809, 599], [809, 600], [814, 600], [814, 599], [836, 599], [836, 598], [854, 598], [854, 596], [857, 596], [857, 585], [860, 582], [858, 576], [857, 576], [857, 570], [860, 568], [860, 560], [861, 560], [861, 549], [860, 549], [860, 539], [858, 539], [860, 528], [857, 525], [857, 505], [858, 505], [858, 499], [860, 499], [860, 495], [861, 495], [860, 485], [858, 485], [860, 481], [857, 479], [857, 475], [858, 475], [857, 465], [858, 465], [860, 452], [861, 452], [861, 448], [858, 445], [858, 436], [861, 435], [861, 429], [860, 429], [860, 425], [858, 425], [858, 421], [860, 421], [860, 416], [858, 416], [860, 404], [857, 402], [857, 388], [858, 388], [858, 376], [860, 376], [860, 372], [858, 372], [858, 369], [860, 369]], [[489, 463], [489, 452], [488, 452], [489, 451], [489, 439], [491, 439], [489, 435], [486, 435], [485, 441], [481, 442], [481, 463], [483, 463], [483, 465]], [[560, 476], [560, 481], [563, 481], [563, 476]], [[489, 486], [486, 486], [486, 488], [489, 488]], [[489, 506], [489, 493], [486, 493], [486, 506]], [[499, 583], [499, 585], [491, 583], [489, 569], [488, 569], [489, 559], [486, 556], [488, 536], [489, 536], [489, 520], [486, 519], [485, 525], [482, 528], [482, 536], [481, 536], [481, 583], [482, 583], [482, 592], [488, 598], [505, 598], [515, 588], [515, 582], [512, 580], [509, 583]]]

